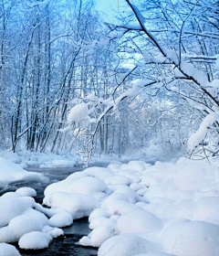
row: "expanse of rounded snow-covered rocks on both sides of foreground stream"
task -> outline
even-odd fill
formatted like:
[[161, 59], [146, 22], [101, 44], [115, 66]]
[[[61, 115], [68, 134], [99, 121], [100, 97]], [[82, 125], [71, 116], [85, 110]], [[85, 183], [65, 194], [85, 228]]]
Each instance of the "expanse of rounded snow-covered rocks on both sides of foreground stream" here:
[[[6, 161], [6, 160], [5, 160]], [[62, 227], [89, 217], [83, 246], [99, 256], [218, 256], [219, 163], [143, 161], [89, 167], [47, 186], [44, 208], [31, 188], [0, 197], [1, 255], [47, 248]], [[25, 225], [24, 225], [25, 223]], [[5, 254], [4, 254], [5, 253]]]

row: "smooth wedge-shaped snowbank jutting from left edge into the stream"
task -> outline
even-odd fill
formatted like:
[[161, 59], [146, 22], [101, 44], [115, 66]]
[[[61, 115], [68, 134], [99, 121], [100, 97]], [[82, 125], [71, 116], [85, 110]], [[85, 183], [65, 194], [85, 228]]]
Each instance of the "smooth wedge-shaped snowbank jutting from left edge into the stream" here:
[[8, 184], [24, 179], [48, 182], [46, 176], [35, 172], [27, 172], [20, 165], [16, 165], [0, 156], [0, 184]]

